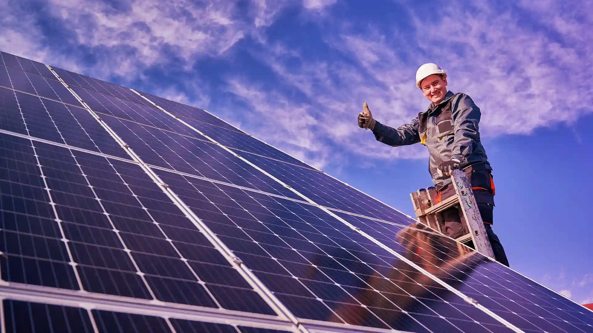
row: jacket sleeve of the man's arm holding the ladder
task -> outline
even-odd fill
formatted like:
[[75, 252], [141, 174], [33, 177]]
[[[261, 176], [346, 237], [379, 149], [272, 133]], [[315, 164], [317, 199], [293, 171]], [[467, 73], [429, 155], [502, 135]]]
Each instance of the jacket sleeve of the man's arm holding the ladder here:
[[457, 101], [452, 105], [453, 129], [455, 142], [451, 159], [458, 159], [461, 164], [467, 160], [467, 156], [473, 152], [474, 142], [478, 137], [478, 124], [482, 113], [480, 108], [466, 94], [460, 94]]

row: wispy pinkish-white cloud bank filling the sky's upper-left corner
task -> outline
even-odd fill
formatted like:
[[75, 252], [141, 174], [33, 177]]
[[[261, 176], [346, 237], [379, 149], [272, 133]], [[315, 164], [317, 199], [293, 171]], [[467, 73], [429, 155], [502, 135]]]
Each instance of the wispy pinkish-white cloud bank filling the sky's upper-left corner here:
[[[7, 52], [38, 61], [52, 60], [72, 71], [110, 79], [137, 78], [146, 68], [169, 65], [191, 69], [203, 57], [225, 56], [227, 50], [251, 34], [259, 34], [276, 20], [282, 9], [297, 0], [85, 0], [39, 1], [43, 13], [23, 2], [0, 0], [0, 47]], [[40, 17], [53, 20], [64, 39], [46, 44]], [[63, 54], [71, 46], [70, 54]], [[88, 50], [95, 62], [83, 64]], [[88, 55], [87, 53], [87, 55]]]

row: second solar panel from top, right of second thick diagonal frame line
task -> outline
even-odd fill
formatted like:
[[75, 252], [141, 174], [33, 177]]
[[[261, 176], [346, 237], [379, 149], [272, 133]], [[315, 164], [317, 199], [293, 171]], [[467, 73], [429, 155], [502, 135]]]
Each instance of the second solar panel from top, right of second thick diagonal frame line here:
[[246, 135], [244, 133], [235, 132], [232, 130], [221, 129], [221, 127], [213, 126], [211, 124], [203, 123], [193, 119], [181, 119], [190, 126], [211, 137], [218, 143], [225, 145], [229, 148], [240, 149], [251, 153], [256, 153], [269, 158], [279, 159], [280, 161], [292, 163], [299, 167], [313, 169], [310, 165], [304, 164], [298, 159], [273, 148], [266, 143], [257, 140], [256, 138]]

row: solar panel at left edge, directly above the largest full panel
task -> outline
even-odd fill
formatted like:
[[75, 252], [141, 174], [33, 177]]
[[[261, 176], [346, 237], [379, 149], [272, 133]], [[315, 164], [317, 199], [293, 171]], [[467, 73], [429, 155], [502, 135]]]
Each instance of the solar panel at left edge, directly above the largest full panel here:
[[130, 158], [83, 108], [0, 87], [0, 111], [0, 129]]

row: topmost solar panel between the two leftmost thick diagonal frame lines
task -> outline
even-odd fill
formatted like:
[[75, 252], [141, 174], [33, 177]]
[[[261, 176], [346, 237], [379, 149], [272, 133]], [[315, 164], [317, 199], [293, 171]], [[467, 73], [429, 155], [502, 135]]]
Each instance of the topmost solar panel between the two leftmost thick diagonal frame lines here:
[[60, 76], [60, 78], [62, 78], [64, 82], [69, 84], [70, 87], [74, 85], [85, 89], [91, 89], [97, 92], [101, 92], [102, 94], [122, 98], [123, 100], [152, 106], [152, 104], [148, 103], [144, 98], [138, 96], [138, 94], [131, 91], [129, 88], [112, 84], [110, 82], [90, 78], [86, 75], [80, 75], [74, 72], [66, 71], [65, 69], [53, 67], [53, 70]]

